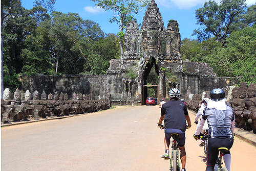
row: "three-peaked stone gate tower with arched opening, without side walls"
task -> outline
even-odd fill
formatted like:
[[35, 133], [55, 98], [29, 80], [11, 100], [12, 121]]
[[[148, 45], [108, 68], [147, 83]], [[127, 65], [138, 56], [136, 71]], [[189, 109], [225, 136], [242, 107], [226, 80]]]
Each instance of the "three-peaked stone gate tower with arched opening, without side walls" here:
[[182, 72], [178, 22], [170, 20], [165, 29], [159, 8], [152, 0], [140, 30], [136, 21], [127, 24], [124, 42], [124, 54], [120, 60], [110, 61], [107, 72], [113, 100], [131, 99], [143, 104], [143, 87], [153, 65], [159, 76], [158, 97], [165, 97], [165, 70]]

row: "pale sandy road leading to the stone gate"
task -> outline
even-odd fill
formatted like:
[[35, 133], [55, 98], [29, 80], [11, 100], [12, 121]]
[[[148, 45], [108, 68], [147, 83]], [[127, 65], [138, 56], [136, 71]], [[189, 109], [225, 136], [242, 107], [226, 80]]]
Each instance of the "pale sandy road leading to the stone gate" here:
[[[2, 170], [168, 170], [158, 106], [118, 107], [1, 129]], [[195, 116], [190, 114], [194, 121]], [[188, 171], [205, 170], [203, 148], [186, 131]], [[235, 138], [232, 171], [253, 170], [256, 148]]]

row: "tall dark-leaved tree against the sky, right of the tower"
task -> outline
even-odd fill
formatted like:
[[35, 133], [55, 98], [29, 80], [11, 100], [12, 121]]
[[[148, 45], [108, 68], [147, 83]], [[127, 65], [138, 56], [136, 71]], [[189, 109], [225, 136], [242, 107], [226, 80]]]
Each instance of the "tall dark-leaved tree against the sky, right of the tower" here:
[[206, 2], [196, 10], [197, 24], [202, 28], [194, 30], [194, 35], [198, 35], [200, 41], [214, 36], [224, 45], [229, 34], [247, 26], [243, 19], [246, 8], [245, 0], [223, 0], [220, 5], [215, 1]]

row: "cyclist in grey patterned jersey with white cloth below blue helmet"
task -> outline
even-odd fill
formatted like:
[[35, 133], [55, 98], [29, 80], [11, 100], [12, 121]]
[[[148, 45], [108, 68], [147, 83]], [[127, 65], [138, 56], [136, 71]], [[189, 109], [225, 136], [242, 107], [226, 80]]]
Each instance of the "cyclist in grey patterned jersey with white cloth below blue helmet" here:
[[231, 155], [229, 150], [233, 145], [234, 111], [226, 105], [225, 92], [216, 88], [210, 92], [210, 100], [203, 111], [202, 120], [197, 126], [194, 138], [200, 139], [200, 131], [207, 119], [209, 127], [209, 140], [207, 150], [206, 171], [214, 171], [218, 158], [218, 148], [225, 147], [228, 152], [224, 155], [226, 168], [230, 171]]

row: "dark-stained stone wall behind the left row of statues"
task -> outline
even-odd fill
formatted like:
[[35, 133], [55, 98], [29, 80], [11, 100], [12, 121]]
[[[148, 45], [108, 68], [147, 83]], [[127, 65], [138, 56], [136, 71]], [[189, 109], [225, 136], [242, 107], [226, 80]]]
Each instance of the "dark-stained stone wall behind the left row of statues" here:
[[20, 92], [26, 90], [34, 92], [45, 91], [68, 93], [69, 96], [75, 93], [90, 94], [94, 99], [107, 91], [106, 75], [61, 75], [61, 76], [20, 76], [22, 82]]

